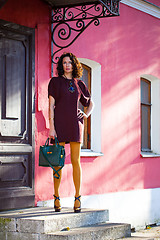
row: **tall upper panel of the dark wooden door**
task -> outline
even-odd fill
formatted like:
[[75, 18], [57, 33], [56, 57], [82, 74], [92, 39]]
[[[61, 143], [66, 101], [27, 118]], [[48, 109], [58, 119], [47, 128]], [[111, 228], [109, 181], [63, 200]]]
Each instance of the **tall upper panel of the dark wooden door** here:
[[26, 125], [24, 45], [16, 40], [3, 39], [2, 57], [1, 136], [22, 136]]

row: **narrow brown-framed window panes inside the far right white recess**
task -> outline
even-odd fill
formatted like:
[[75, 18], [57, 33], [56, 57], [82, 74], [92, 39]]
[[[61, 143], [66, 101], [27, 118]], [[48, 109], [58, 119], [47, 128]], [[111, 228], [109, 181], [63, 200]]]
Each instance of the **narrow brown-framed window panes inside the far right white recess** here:
[[151, 82], [141, 78], [141, 150], [151, 151]]

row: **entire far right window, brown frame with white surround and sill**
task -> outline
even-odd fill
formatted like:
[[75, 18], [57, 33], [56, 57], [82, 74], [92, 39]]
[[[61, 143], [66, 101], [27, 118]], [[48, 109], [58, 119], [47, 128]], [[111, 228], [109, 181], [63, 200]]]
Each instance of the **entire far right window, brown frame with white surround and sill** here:
[[160, 79], [141, 75], [141, 155], [160, 156]]

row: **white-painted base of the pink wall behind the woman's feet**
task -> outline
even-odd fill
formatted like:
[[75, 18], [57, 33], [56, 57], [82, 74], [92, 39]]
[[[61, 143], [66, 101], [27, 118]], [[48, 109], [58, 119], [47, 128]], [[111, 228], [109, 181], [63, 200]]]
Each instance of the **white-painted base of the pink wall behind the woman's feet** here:
[[[136, 229], [160, 222], [160, 188], [82, 196], [83, 208], [108, 209], [109, 221], [129, 223]], [[63, 207], [73, 209], [74, 197], [61, 198]], [[53, 207], [54, 200], [38, 202], [37, 206]]]

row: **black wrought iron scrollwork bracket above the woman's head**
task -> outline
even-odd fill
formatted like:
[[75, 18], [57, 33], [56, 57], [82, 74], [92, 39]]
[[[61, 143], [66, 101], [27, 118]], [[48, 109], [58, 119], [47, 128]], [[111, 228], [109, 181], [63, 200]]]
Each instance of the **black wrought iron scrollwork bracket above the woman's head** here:
[[[120, 0], [99, 0], [101, 4], [63, 7], [52, 11], [52, 62], [57, 63], [58, 52], [69, 47], [92, 23], [100, 18], [119, 16]], [[103, 3], [103, 4], [102, 4]]]

